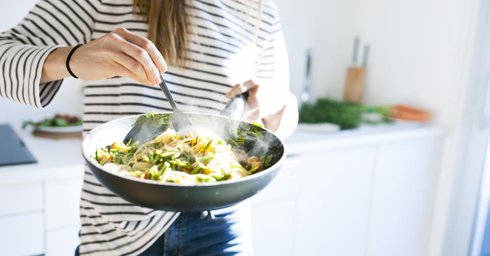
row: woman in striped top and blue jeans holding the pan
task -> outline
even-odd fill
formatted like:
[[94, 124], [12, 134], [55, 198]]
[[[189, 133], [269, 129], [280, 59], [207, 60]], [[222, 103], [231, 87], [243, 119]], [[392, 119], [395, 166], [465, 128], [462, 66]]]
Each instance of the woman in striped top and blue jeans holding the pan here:
[[[217, 114], [248, 91], [243, 119], [281, 136], [297, 123], [279, 16], [269, 1], [42, 0], [0, 35], [0, 68], [0, 95], [38, 108], [49, 105], [63, 78], [86, 80], [84, 132], [170, 110], [152, 87], [160, 72], [184, 111]], [[79, 254], [250, 254], [247, 207], [240, 205], [208, 216], [143, 208], [86, 169]]]

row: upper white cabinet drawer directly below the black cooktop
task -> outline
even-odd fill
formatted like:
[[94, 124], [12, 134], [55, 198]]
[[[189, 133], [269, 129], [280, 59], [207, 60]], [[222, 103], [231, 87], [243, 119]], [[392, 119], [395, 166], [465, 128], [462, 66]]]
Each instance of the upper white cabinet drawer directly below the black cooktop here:
[[0, 205], [0, 216], [42, 210], [42, 183], [0, 186]]

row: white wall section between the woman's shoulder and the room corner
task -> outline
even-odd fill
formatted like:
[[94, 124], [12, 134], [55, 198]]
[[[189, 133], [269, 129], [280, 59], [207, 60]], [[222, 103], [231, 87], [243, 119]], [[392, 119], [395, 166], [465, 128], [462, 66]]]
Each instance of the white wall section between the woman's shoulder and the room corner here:
[[312, 49], [312, 95], [339, 98], [350, 65], [360, 0], [276, 0], [288, 48], [291, 91], [299, 96]]

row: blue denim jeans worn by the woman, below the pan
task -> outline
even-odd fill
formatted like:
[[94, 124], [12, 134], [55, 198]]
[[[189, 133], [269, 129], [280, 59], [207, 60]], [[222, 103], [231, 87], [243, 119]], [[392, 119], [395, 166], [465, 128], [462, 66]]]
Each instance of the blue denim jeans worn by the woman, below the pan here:
[[253, 255], [248, 203], [203, 213], [181, 213], [141, 256]]

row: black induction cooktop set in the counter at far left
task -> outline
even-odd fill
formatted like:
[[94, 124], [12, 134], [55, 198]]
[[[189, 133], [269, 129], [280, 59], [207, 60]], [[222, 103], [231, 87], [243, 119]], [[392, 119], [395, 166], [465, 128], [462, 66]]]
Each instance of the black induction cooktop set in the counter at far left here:
[[36, 162], [12, 127], [0, 124], [0, 166]]

